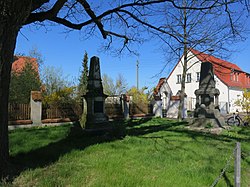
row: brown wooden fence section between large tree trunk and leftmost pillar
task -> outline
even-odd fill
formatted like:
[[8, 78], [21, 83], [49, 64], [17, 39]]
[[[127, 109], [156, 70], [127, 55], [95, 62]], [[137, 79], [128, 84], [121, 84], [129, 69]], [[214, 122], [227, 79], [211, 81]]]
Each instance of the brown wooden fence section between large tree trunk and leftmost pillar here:
[[30, 104], [9, 104], [9, 121], [29, 120]]

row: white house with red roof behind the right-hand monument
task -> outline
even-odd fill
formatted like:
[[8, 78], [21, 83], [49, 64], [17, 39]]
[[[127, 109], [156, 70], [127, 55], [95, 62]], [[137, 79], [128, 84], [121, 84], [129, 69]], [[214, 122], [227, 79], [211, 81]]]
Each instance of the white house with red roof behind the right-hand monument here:
[[[155, 95], [161, 97], [163, 106], [167, 105], [164, 101], [165, 89], [163, 88], [166, 87], [165, 84], [167, 84], [171, 90], [168, 91], [168, 93], [171, 92], [173, 95], [177, 95], [178, 91], [181, 89], [183, 61], [184, 59], [182, 57], [175, 65], [168, 78], [162, 78], [156, 87]], [[199, 87], [201, 63], [206, 61], [213, 64], [216, 88], [220, 91], [219, 105], [221, 112], [231, 113], [235, 112], [236, 109], [241, 110], [240, 107], [235, 105], [235, 101], [242, 97], [243, 89], [250, 88], [250, 74], [242, 71], [233, 63], [195, 49], [189, 49], [188, 52], [188, 70], [185, 89], [187, 95], [187, 110], [194, 110], [195, 108], [194, 91]]]

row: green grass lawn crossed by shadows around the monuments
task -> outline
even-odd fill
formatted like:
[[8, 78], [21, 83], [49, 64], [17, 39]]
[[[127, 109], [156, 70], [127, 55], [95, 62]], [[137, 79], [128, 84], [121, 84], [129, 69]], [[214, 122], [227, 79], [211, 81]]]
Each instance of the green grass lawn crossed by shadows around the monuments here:
[[[87, 136], [72, 125], [11, 131], [10, 154], [17, 169], [11, 182], [0, 185], [211, 186], [240, 141], [241, 186], [250, 186], [249, 127], [214, 135], [160, 118], [120, 124], [126, 135], [116, 138]], [[216, 186], [230, 185], [233, 159]]]

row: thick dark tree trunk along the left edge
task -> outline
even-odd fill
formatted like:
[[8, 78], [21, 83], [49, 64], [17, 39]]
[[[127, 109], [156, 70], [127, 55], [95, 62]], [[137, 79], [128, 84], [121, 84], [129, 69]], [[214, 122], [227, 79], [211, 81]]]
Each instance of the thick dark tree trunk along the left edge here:
[[31, 0], [0, 2], [0, 178], [8, 171], [8, 99], [16, 39], [30, 14]]

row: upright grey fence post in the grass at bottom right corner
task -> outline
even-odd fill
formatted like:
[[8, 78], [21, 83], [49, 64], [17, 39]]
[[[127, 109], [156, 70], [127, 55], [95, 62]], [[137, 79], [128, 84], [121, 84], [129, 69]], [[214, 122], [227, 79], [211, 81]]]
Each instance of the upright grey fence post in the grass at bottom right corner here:
[[240, 161], [241, 161], [241, 150], [240, 142], [236, 143], [235, 161], [234, 161], [234, 186], [240, 187]]

